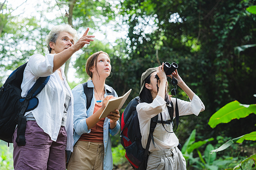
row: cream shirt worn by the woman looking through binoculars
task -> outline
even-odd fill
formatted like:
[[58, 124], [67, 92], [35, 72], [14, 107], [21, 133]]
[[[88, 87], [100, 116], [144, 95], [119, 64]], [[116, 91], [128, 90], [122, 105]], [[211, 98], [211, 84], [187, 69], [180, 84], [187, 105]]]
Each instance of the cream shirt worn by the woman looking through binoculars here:
[[[176, 98], [170, 98], [174, 104], [174, 117], [175, 117], [175, 107], [176, 107]], [[169, 105], [170, 106], [170, 105]], [[186, 102], [178, 99], [178, 108], [179, 115], [189, 115], [195, 114], [198, 115], [199, 112], [204, 111], [204, 104], [200, 100], [200, 98], [194, 94], [192, 101]], [[138, 119], [140, 123], [140, 133], [142, 136], [141, 143], [142, 147], [146, 148], [146, 142], [148, 138], [148, 134], [150, 133], [150, 120], [155, 115], [162, 112], [163, 120], [169, 120], [170, 116], [167, 110], [166, 102], [159, 95], [153, 100], [152, 103], [139, 103], [136, 107], [138, 112]], [[161, 116], [159, 114], [158, 120], [161, 120]], [[167, 131], [173, 132], [172, 124], [167, 125], [164, 124], [164, 127]], [[150, 149], [148, 151], [160, 151], [165, 149], [170, 149], [172, 147], [177, 147], [179, 144], [179, 139], [174, 133], [168, 133], [165, 131], [162, 124], [157, 124], [153, 136], [155, 141], [154, 147], [152, 141], [150, 144]], [[178, 128], [179, 129], [179, 128]]]

